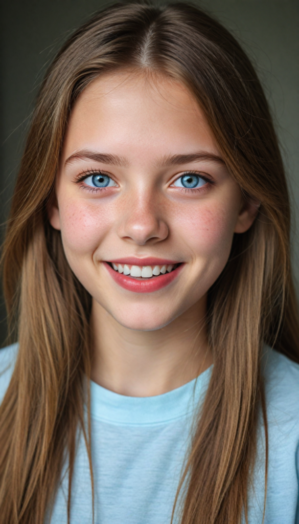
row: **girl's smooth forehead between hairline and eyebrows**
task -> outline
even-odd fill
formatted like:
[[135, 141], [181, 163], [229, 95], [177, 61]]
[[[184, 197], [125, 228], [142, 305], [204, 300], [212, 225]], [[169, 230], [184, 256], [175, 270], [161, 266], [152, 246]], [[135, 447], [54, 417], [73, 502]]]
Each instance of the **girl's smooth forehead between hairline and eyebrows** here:
[[180, 82], [119, 71], [94, 80], [74, 104], [63, 156], [96, 148], [173, 154], [217, 145], [201, 107]]

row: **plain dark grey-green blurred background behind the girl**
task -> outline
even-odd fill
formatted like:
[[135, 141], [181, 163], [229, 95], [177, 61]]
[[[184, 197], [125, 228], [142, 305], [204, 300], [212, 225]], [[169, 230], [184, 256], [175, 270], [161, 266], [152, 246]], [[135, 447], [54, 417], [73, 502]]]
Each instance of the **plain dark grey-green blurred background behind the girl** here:
[[[205, 0], [194, 2], [241, 42], [258, 71], [280, 137], [293, 207], [293, 265], [299, 281], [299, 2]], [[1, 240], [30, 114], [43, 73], [72, 31], [109, 2], [2, 0], [1, 4]], [[299, 289], [299, 287], [297, 287]], [[6, 313], [0, 294], [0, 347]]]

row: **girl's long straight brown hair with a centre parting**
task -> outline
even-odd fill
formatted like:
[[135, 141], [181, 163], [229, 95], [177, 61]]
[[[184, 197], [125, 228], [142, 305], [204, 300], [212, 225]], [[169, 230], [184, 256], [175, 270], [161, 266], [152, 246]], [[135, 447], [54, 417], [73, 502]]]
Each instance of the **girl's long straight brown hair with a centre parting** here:
[[6, 524], [42, 523], [68, 460], [70, 520], [79, 429], [92, 473], [90, 414], [87, 428], [83, 415], [84, 402], [89, 405], [91, 298], [73, 275], [46, 208], [72, 104], [88, 83], [117, 68], [184, 83], [201, 105], [231, 177], [245, 198], [260, 202], [253, 226], [235, 235], [228, 263], [209, 291], [214, 367], [181, 481], [187, 486], [182, 524], [237, 523], [242, 510], [247, 516], [260, 409], [267, 441], [263, 344], [299, 361], [290, 205], [256, 72], [224, 27], [184, 3], [104, 9], [65, 43], [41, 86], [3, 252], [4, 291], [19, 350], [0, 408], [1, 518]]

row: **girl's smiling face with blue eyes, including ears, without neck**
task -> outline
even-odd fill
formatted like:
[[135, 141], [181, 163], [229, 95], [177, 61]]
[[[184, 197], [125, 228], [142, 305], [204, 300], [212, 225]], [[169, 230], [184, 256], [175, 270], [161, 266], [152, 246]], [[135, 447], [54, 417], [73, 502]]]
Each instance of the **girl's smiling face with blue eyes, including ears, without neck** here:
[[56, 194], [50, 222], [74, 274], [134, 330], [204, 304], [234, 232], [254, 220], [189, 91], [128, 72], [93, 81], [74, 105]]

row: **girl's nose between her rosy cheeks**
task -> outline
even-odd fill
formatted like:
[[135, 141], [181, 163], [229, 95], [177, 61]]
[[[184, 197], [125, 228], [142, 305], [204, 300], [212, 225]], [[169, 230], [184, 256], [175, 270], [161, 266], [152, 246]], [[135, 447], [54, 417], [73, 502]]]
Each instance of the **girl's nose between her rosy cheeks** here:
[[119, 237], [140, 246], [167, 238], [169, 228], [162, 216], [163, 206], [158, 200], [154, 195], [131, 195], [126, 199], [120, 216]]

